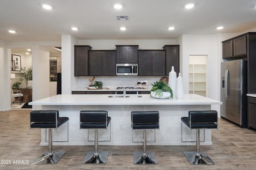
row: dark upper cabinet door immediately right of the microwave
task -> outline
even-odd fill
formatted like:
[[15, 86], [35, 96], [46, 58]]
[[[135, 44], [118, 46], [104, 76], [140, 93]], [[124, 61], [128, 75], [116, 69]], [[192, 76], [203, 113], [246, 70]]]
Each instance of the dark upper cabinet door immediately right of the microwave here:
[[138, 76], [151, 76], [151, 51], [139, 51], [138, 52]]

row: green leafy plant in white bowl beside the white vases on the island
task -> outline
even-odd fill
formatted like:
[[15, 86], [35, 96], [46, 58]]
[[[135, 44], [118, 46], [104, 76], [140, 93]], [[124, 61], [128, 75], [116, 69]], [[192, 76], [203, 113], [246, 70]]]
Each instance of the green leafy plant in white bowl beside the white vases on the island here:
[[173, 98], [172, 89], [165, 81], [156, 81], [151, 85], [150, 97], [158, 99]]

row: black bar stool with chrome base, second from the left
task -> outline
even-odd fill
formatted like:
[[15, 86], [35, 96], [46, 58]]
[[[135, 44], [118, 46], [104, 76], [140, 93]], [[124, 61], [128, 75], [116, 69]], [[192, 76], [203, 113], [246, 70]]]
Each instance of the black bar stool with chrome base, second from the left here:
[[83, 164], [106, 164], [108, 151], [98, 151], [98, 129], [107, 129], [110, 121], [108, 111], [80, 111], [80, 129], [95, 129], [94, 151], [86, 154]]

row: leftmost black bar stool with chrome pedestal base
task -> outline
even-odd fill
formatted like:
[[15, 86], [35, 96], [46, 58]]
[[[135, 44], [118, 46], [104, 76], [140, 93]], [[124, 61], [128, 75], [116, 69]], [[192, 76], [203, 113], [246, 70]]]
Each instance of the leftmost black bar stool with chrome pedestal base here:
[[65, 154], [65, 151], [52, 152], [52, 129], [58, 129], [68, 122], [68, 117], [59, 117], [58, 110], [34, 110], [30, 111], [30, 128], [48, 128], [48, 152], [44, 152], [33, 164], [56, 164]]

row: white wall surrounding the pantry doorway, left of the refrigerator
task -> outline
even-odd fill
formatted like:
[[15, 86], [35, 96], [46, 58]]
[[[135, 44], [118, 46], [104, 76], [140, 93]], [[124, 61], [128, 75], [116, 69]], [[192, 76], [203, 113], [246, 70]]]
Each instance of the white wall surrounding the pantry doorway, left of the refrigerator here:
[[[189, 93], [189, 55], [207, 55], [207, 97], [220, 100], [220, 53], [218, 35], [182, 35], [184, 93]], [[219, 106], [212, 109], [219, 110]]]

